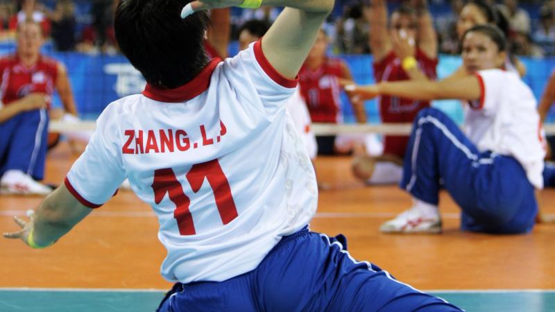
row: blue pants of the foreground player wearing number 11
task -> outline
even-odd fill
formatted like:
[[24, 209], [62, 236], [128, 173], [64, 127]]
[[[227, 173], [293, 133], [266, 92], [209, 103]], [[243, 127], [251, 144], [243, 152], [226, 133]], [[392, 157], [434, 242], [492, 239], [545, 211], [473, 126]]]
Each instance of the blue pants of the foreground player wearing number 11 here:
[[284, 236], [253, 271], [176, 284], [157, 311], [461, 311], [352, 259], [344, 245], [343, 235], [302, 229]]

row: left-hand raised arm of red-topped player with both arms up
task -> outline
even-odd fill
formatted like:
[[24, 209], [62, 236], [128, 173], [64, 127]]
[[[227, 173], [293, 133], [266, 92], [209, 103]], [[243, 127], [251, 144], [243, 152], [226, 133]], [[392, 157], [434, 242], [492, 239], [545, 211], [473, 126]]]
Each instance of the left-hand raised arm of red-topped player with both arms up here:
[[391, 41], [387, 31], [387, 6], [384, 0], [373, 0], [370, 8], [365, 8], [368, 23], [370, 23], [370, 33], [368, 44], [374, 55], [374, 61], [379, 62], [391, 51]]

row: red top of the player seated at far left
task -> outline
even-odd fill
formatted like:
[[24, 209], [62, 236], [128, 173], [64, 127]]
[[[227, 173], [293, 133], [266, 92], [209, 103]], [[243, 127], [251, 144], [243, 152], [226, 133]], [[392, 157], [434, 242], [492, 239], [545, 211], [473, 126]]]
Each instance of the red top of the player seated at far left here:
[[33, 92], [51, 96], [58, 78], [58, 62], [41, 55], [33, 67], [25, 67], [17, 55], [9, 55], [0, 58], [0, 73], [1, 100], [9, 105]]

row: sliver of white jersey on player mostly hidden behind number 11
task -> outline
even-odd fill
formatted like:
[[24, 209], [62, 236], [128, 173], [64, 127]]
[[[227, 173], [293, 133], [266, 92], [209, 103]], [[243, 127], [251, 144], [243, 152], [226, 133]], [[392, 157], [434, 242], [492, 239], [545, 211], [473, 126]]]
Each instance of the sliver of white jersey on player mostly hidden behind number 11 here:
[[305, 99], [300, 95], [300, 89], [297, 87], [293, 96], [287, 101], [287, 110], [293, 118], [293, 123], [297, 128], [302, 143], [305, 144], [307, 148], [308, 155], [310, 159], [316, 159], [316, 153], [318, 153], [318, 145], [316, 144], [316, 137], [314, 132], [312, 132], [310, 119], [310, 113], [308, 112], [307, 103]]

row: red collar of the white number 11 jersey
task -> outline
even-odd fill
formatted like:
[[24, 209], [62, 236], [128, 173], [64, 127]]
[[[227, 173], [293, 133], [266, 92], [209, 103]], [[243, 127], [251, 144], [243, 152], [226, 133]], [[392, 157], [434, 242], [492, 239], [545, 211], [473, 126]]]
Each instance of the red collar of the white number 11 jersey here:
[[198, 96], [208, 89], [210, 86], [210, 78], [216, 66], [221, 62], [221, 59], [214, 58], [208, 63], [198, 75], [181, 87], [176, 89], [161, 89], [153, 85], [146, 84], [143, 95], [151, 98], [154, 101], [166, 103], [180, 103], [189, 101], [191, 98]]

